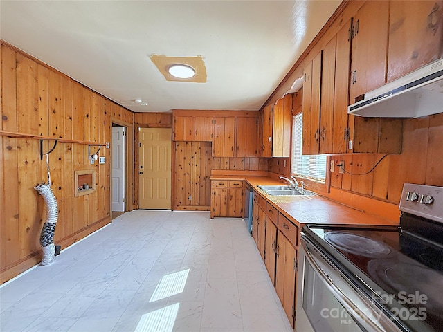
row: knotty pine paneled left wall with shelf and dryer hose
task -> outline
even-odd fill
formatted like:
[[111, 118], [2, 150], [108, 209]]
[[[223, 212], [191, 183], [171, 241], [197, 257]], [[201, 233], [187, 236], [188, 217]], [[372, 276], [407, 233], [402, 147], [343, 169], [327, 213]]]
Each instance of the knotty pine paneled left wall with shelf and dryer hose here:
[[[62, 248], [111, 222], [111, 149], [91, 165], [87, 142], [111, 142], [112, 118], [132, 125], [134, 114], [82, 86], [70, 77], [1, 42], [0, 129], [60, 140], [48, 155], [51, 187], [59, 217], [55, 243]], [[43, 140], [44, 152], [54, 140]], [[0, 136], [0, 273], [1, 282], [15, 277], [40, 259], [39, 234], [46, 208], [35, 185], [47, 181], [46, 157], [40, 140]], [[91, 146], [91, 153], [98, 147]], [[96, 192], [75, 197], [74, 172], [96, 171]]]

